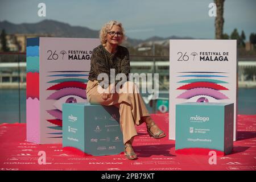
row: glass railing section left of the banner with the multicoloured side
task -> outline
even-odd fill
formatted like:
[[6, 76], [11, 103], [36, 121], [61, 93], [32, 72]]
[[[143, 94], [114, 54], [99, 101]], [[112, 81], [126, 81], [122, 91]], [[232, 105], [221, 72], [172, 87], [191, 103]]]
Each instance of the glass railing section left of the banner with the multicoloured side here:
[[0, 53], [0, 123], [26, 122], [26, 54]]

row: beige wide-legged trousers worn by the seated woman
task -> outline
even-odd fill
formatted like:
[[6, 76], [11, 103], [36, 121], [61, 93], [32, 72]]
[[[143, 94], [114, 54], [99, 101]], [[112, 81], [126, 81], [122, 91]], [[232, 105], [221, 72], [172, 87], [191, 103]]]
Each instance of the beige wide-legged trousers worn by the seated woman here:
[[[98, 92], [98, 85], [97, 80], [88, 81], [86, 87], [87, 99], [91, 104], [114, 105], [119, 108], [120, 126], [123, 133], [123, 143], [125, 144], [137, 135], [135, 124], [140, 125], [142, 123], [141, 117], [150, 116], [141, 94], [139, 94], [138, 87], [134, 82], [127, 81], [123, 84], [119, 93], [112, 93], [110, 98], [104, 100], [101, 92]], [[99, 88], [101, 89], [100, 85]]]

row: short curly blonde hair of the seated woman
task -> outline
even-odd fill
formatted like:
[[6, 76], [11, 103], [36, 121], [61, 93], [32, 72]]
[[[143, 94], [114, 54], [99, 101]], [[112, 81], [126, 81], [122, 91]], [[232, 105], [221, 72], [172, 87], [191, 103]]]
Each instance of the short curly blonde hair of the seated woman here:
[[122, 26], [122, 23], [118, 22], [118, 21], [115, 21], [115, 20], [111, 20], [110, 22], [108, 23], [105, 23], [104, 26], [101, 28], [100, 30], [100, 40], [101, 40], [101, 44], [102, 46], [106, 46], [106, 42], [107, 42], [107, 34], [108, 32], [112, 29], [112, 27], [114, 25], [117, 25], [121, 28], [122, 30], [122, 42], [123, 40], [126, 39], [126, 36], [125, 36], [125, 30], [123, 29], [123, 26]]

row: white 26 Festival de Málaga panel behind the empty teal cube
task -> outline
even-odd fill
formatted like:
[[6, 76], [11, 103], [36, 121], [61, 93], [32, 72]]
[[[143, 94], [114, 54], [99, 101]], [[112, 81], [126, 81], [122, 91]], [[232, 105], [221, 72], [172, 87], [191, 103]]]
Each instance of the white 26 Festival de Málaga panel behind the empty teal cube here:
[[234, 103], [236, 140], [236, 40], [170, 40], [169, 139], [175, 139], [175, 105], [184, 102]]

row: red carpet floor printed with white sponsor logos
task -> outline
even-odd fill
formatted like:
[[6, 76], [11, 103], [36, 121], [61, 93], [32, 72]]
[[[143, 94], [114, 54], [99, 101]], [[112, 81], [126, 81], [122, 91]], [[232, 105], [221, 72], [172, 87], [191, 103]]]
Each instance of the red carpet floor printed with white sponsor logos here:
[[[152, 118], [168, 133], [168, 114], [152, 114]], [[61, 144], [36, 145], [26, 142], [26, 124], [0, 125], [0, 170], [256, 170], [256, 115], [238, 115], [238, 141], [232, 154], [210, 156], [175, 154], [175, 141], [153, 139], [146, 127], [138, 127], [134, 140], [137, 160], [123, 154], [112, 156], [79, 156], [62, 151]], [[39, 151], [46, 152], [46, 164], [39, 164]]]

